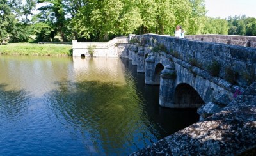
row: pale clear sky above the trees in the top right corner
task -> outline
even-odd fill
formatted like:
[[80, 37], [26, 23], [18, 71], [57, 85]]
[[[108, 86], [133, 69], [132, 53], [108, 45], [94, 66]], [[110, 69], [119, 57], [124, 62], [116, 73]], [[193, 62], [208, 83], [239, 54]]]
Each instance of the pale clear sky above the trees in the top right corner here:
[[243, 15], [256, 18], [256, 0], [205, 0], [207, 16], [226, 18]]

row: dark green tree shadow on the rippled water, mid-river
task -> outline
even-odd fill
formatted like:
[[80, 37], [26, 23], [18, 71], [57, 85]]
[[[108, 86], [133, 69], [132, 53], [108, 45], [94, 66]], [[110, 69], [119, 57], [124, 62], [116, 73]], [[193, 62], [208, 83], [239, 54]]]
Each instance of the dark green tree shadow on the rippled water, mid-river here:
[[145, 106], [133, 82], [125, 86], [99, 81], [56, 83], [58, 89], [47, 95], [49, 106], [63, 125], [81, 132], [90, 153], [129, 154], [157, 141], [151, 133], [154, 127], [145, 125]]

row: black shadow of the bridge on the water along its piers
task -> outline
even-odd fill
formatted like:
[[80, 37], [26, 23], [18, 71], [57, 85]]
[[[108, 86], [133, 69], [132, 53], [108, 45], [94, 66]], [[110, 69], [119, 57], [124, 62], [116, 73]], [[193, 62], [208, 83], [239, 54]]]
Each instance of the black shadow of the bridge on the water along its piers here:
[[159, 86], [147, 85], [144, 82], [145, 74], [137, 72], [137, 66], [132, 65], [132, 61], [122, 59], [122, 63], [129, 69], [136, 79], [136, 88], [141, 91], [144, 98], [145, 114], [150, 123], [155, 124], [159, 129], [158, 139], [173, 134], [189, 125], [199, 121], [197, 109], [170, 109], [159, 106]]

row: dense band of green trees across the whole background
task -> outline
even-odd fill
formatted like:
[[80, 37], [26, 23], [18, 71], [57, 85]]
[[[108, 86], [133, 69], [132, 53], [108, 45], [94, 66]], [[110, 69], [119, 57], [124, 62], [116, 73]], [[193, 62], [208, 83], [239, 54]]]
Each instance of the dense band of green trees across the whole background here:
[[[36, 15], [31, 10], [37, 8]], [[256, 35], [256, 19], [206, 17], [204, 0], [1, 0], [0, 42], [110, 40], [129, 33]], [[35, 36], [31, 38], [32, 36]]]

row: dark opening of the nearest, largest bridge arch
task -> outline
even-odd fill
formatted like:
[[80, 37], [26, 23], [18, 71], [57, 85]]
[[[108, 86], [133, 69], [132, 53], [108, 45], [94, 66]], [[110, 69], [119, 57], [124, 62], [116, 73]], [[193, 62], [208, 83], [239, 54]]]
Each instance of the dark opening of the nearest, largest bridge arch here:
[[197, 91], [185, 83], [179, 84], [175, 88], [174, 103], [190, 108], [198, 108], [205, 104]]

